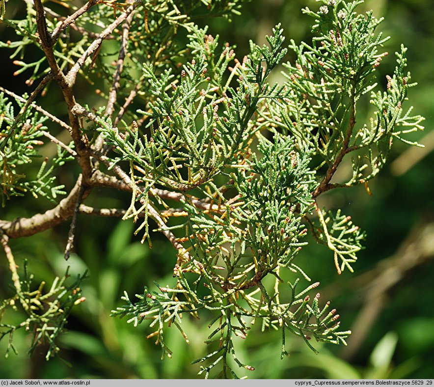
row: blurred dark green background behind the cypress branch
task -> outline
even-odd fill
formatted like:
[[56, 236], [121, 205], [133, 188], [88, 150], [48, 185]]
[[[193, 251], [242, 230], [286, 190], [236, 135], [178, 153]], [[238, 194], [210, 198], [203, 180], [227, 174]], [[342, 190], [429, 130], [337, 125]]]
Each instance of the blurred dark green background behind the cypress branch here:
[[[232, 23], [213, 20], [209, 33], [220, 34], [220, 42], [237, 44], [238, 57], [247, 53], [249, 39], [262, 44], [265, 34], [278, 22], [287, 39], [307, 40], [310, 18], [301, 13], [306, 5], [319, 6], [314, 0], [253, 0], [245, 4], [243, 14], [235, 16]], [[425, 131], [414, 134], [412, 139], [426, 148], [409, 149], [396, 143], [390, 164], [369, 184], [372, 197], [364, 187], [356, 187], [330, 192], [320, 199], [320, 204], [329, 209], [342, 208], [368, 234], [354, 274], [345, 271], [338, 277], [329, 251], [316, 244], [303, 249], [298, 257], [298, 262], [307, 262], [303, 267], [308, 274], [321, 281], [322, 302], [331, 300], [341, 315], [342, 327], [353, 330], [349, 346], [314, 343], [320, 351], [315, 355], [301, 339], [289, 337], [287, 350], [291, 356], [279, 360], [280, 333], [261, 333], [260, 327], [255, 327], [246, 340], [237, 342], [239, 359], [256, 368], [253, 373], [239, 370], [241, 376], [434, 377], [434, 4], [432, 0], [367, 0], [359, 11], [363, 9], [374, 9], [377, 17], [385, 17], [380, 29], [392, 37], [385, 51], [392, 54], [401, 43], [408, 47], [408, 69], [412, 80], [419, 83], [410, 89], [408, 97], [414, 112], [427, 118]], [[13, 35], [0, 25], [0, 37], [5, 41]], [[16, 84], [24, 85], [26, 75], [12, 78], [16, 68], [9, 64], [9, 53], [2, 50], [0, 55], [1, 84], [19, 93]], [[393, 55], [382, 61], [381, 84], [385, 84], [385, 75], [391, 74], [394, 66]], [[279, 80], [278, 71], [274, 77]], [[58, 91], [51, 87], [44, 106], [52, 112], [62, 111], [58, 101]], [[87, 103], [104, 104], [93, 96]], [[345, 173], [345, 166], [339, 173]], [[66, 171], [59, 176], [67, 186], [71, 179]], [[100, 190], [92, 193], [86, 203], [125, 208], [129, 196]], [[50, 203], [32, 197], [12, 199], [0, 208], [0, 219], [28, 217], [50, 207]], [[143, 285], [152, 286], [153, 280], [160, 284], [172, 282], [176, 258], [170, 244], [155, 236], [151, 250], [132, 236], [131, 222], [81, 215], [76, 254], [66, 263], [63, 250], [68, 227], [63, 224], [30, 238], [11, 240], [10, 245], [19, 265], [28, 259], [35, 284], [42, 279], [50, 283], [54, 276], [64, 273], [66, 265], [71, 265], [72, 274], [88, 268], [90, 277], [83, 283], [86, 302], [74, 309], [67, 325], [69, 332], [60, 337], [60, 358], [45, 361], [43, 347], [29, 358], [26, 352], [31, 337], [19, 331], [15, 337], [19, 354], [1, 358], [0, 377], [196, 378], [199, 368], [190, 362], [205, 354], [203, 341], [209, 334], [206, 318], [184, 319], [190, 345], [178, 331], [168, 330], [167, 343], [173, 357], [161, 361], [160, 347], [152, 338], [146, 339], [152, 332], [147, 325], [134, 328], [125, 320], [109, 317], [110, 310], [121, 304], [124, 290], [132, 296], [141, 293]], [[11, 295], [10, 282], [7, 261], [0, 251], [0, 297]], [[3, 340], [1, 356], [5, 348]]]

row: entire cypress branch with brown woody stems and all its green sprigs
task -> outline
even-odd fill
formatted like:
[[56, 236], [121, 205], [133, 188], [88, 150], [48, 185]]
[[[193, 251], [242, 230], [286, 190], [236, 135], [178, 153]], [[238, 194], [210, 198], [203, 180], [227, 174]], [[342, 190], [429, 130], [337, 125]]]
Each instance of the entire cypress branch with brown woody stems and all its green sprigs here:
[[[112, 315], [134, 325], [149, 321], [155, 331], [148, 338], [156, 337], [164, 358], [171, 356], [164, 341], [168, 327], [175, 325], [188, 342], [182, 316], [211, 313], [208, 355], [193, 362], [205, 377], [237, 378], [234, 364], [254, 370], [238, 358], [234, 338], [245, 339], [257, 323], [263, 331], [281, 330], [282, 358], [288, 332], [313, 351], [312, 337], [346, 344], [351, 332], [341, 329], [330, 303], [321, 304], [320, 293], [312, 293], [319, 282], [302, 269], [300, 251], [310, 234], [331, 250], [338, 274], [345, 268], [353, 272], [365, 234], [340, 210], [320, 209], [317, 198], [359, 184], [369, 192], [367, 184], [387, 163], [393, 140], [419, 146], [407, 135], [423, 129], [423, 118], [411, 115], [412, 108], [404, 110], [407, 90], [415, 84], [404, 46], [396, 53], [394, 74], [385, 81], [376, 78], [388, 37], [376, 32], [382, 19], [356, 13], [362, 1], [321, 0], [317, 12], [303, 10], [314, 20], [311, 43], [291, 40], [285, 47], [277, 25], [268, 44], [250, 42], [250, 52], [239, 60], [235, 46], [221, 44], [195, 22], [199, 16], [229, 18], [242, 2], [92, 0], [66, 17], [34, 0], [20, 21], [8, 19], [9, 4], [1, 2], [1, 22], [20, 38], [0, 47], [20, 58], [14, 61], [17, 75], [32, 70], [28, 85], [39, 82], [22, 97], [1, 88], [3, 205], [27, 192], [56, 202], [67, 190], [55, 185], [54, 168], [73, 160], [81, 167], [70, 194], [45, 216], [20, 220], [18, 226], [0, 221], [6, 255], [11, 254], [7, 238], [31, 235], [71, 216], [72, 246], [81, 212], [132, 218], [138, 222], [135, 233], [151, 246], [151, 227], [157, 224], [154, 231], [175, 248], [173, 283], [155, 283], [157, 291], [145, 285], [138, 302], [125, 293], [125, 304]], [[71, 31], [80, 38], [70, 40]], [[119, 42], [115, 60], [108, 40]], [[25, 60], [29, 45], [41, 49], [32, 63]], [[288, 49], [296, 59], [283, 63], [286, 81], [270, 84]], [[90, 84], [104, 80], [104, 90], [96, 91], [106, 106], [81, 103], [74, 89], [78, 77]], [[52, 83], [62, 90], [68, 123], [35, 102]], [[373, 113], [359, 122], [357, 106], [364, 99]], [[69, 144], [59, 140], [60, 128], [70, 134]], [[42, 156], [31, 179], [22, 166], [41, 157], [38, 147], [47, 139], [56, 143], [57, 156], [51, 161]], [[332, 182], [348, 159], [352, 177]], [[82, 202], [101, 186], [130, 191], [128, 208], [89, 210]], [[31, 292], [27, 275], [21, 281], [10, 267], [16, 296], [2, 308], [19, 300], [29, 318], [19, 326], [1, 325], [9, 330], [2, 336], [35, 326], [31, 350], [45, 335], [49, 358], [68, 312], [82, 300], [83, 277], [70, 287], [56, 280], [47, 296], [42, 287]], [[40, 300], [53, 296], [47, 312], [33, 312]]]

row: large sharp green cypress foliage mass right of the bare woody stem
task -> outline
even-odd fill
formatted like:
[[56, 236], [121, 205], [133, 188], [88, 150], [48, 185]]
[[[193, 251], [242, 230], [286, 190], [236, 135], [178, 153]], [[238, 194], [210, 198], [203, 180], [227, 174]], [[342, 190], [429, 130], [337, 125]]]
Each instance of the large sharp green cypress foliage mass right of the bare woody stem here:
[[[114, 161], [127, 158], [141, 162], [140, 168], [148, 176], [155, 176], [148, 182], [150, 186], [182, 192], [196, 189], [217, 209], [199, 209], [195, 199], [185, 195], [182, 202], [188, 218], [170, 228], [185, 229], [186, 235], [181, 238], [185, 250], [179, 252], [174, 271], [174, 288], [179, 291], [172, 290], [171, 298], [164, 295], [165, 304], [158, 301], [161, 295], [156, 294], [155, 300], [149, 294], [148, 299], [140, 296], [146, 300], [146, 307], [128, 299], [129, 304], [113, 311], [113, 315], [151, 318], [148, 316], [158, 312], [158, 317], [152, 318], [153, 324], [159, 321], [157, 341], [162, 343], [164, 353], [167, 348], [162, 341], [162, 322], [175, 321], [183, 310], [192, 314], [204, 307], [219, 310], [209, 325], [211, 328], [218, 322], [218, 326], [207, 341], [217, 344], [217, 349], [197, 360], [208, 363], [201, 368], [206, 377], [219, 363], [219, 376], [228, 372], [236, 376], [226, 361], [229, 354], [240, 367], [253, 368], [237, 358], [233, 337], [245, 337], [257, 319], [262, 320], [264, 329], [282, 329], [283, 340], [285, 332], [303, 337], [314, 351], [308, 342], [311, 335], [317, 341], [345, 344], [350, 333], [340, 331], [335, 310], [326, 313], [329, 303], [319, 306], [319, 293], [312, 304], [309, 296], [303, 298], [318, 283], [295, 295], [298, 279], [294, 285], [288, 282], [293, 296], [285, 302], [279, 299], [279, 286], [284, 282], [282, 268], [310, 281], [294, 263], [307, 244], [303, 241], [308, 232], [305, 224], [317, 241], [332, 250], [339, 274], [345, 268], [353, 271], [365, 234], [339, 210], [336, 214], [320, 210], [315, 198], [331, 188], [366, 183], [387, 161], [392, 139], [403, 139], [401, 135], [421, 128], [421, 117], [402, 113], [407, 88], [413, 85], [409, 73], [404, 73], [404, 48], [397, 54], [395, 74], [387, 77], [387, 91], [374, 91], [375, 71], [387, 54], [378, 52], [388, 38], [374, 33], [381, 19], [375, 19], [372, 12], [354, 12], [359, 3], [325, 1], [327, 5], [318, 12], [304, 10], [315, 18], [313, 31], [317, 36], [311, 45], [297, 46], [291, 41], [289, 48], [297, 59], [295, 64], [284, 64], [288, 82], [280, 86], [265, 84], [271, 69], [286, 53], [281, 49], [279, 26], [267, 37], [270, 48], [251, 43], [251, 54], [243, 63], [236, 62], [236, 70], [229, 67], [229, 77], [224, 77], [221, 68], [232, 58], [230, 48], [226, 45], [223, 54], [215, 54], [217, 39], [206, 35], [206, 30], [190, 35], [189, 47], [195, 55], [191, 64], [183, 66], [180, 79], [169, 71], [159, 78], [150, 66], [144, 67], [155, 99], [149, 111], [141, 112], [151, 117], [148, 128], [152, 139], [145, 136], [145, 144], [138, 151], [129, 148], [132, 151], [128, 155], [126, 146], [119, 146], [117, 151], [123, 156]], [[238, 84], [231, 87], [234, 81]], [[370, 127], [359, 128], [355, 119], [357, 102], [369, 92], [378, 111]], [[397, 131], [400, 125], [411, 129]], [[273, 133], [272, 138], [267, 131]], [[251, 150], [253, 146], [257, 151]], [[353, 178], [347, 183], [330, 183], [339, 163], [354, 151], [358, 155], [353, 158]], [[152, 155], [152, 160], [144, 155]], [[186, 167], [187, 179], [182, 173]], [[321, 180], [324, 168], [327, 171]], [[214, 184], [221, 175], [231, 178], [223, 190]], [[139, 178], [143, 176], [136, 176]], [[193, 280], [191, 273], [198, 278]], [[268, 276], [275, 278], [272, 289], [266, 284]], [[200, 299], [198, 294], [204, 287], [210, 293]], [[182, 303], [180, 299], [187, 301]], [[246, 318], [253, 320], [248, 323]], [[141, 322], [137, 317], [130, 321]], [[181, 320], [176, 321], [180, 327]], [[283, 356], [284, 342], [282, 348]]]

